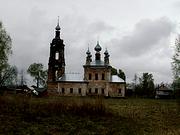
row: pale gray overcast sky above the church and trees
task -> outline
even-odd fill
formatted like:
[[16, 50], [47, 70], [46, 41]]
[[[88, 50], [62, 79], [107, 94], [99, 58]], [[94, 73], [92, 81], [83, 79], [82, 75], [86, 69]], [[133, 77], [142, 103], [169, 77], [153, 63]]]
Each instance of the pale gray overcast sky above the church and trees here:
[[[171, 82], [171, 58], [179, 30], [180, 0], [0, 0], [0, 21], [12, 37], [11, 64], [47, 68], [57, 16], [65, 43], [66, 72], [83, 73], [86, 50], [99, 40], [113, 67], [152, 73], [156, 83]], [[103, 57], [103, 55], [102, 55]]]

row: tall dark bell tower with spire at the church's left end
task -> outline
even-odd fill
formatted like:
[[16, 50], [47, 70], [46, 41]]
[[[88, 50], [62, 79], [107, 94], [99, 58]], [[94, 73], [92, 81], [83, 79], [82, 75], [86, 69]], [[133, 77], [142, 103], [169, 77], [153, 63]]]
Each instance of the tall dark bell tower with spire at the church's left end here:
[[48, 82], [55, 82], [65, 73], [64, 44], [60, 38], [59, 17], [55, 28], [55, 37], [50, 43], [50, 56], [48, 63]]

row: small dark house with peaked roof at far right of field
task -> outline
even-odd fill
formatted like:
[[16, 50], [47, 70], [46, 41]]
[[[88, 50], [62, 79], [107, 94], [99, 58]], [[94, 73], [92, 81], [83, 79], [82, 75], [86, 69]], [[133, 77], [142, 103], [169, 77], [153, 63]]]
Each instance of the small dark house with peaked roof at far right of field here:
[[155, 98], [172, 98], [173, 90], [164, 84], [158, 86], [155, 90]]

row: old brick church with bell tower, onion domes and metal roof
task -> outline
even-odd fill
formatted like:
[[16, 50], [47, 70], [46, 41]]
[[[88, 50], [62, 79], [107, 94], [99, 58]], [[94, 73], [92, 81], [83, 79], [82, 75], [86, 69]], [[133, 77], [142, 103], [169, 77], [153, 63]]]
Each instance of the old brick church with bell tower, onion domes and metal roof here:
[[59, 96], [110, 96], [124, 97], [125, 82], [119, 76], [112, 75], [109, 53], [101, 53], [99, 42], [95, 45], [95, 58], [92, 59], [89, 48], [86, 52], [84, 74], [66, 73], [63, 40], [60, 38], [59, 22], [55, 28], [55, 38], [50, 43], [48, 63], [48, 94]]

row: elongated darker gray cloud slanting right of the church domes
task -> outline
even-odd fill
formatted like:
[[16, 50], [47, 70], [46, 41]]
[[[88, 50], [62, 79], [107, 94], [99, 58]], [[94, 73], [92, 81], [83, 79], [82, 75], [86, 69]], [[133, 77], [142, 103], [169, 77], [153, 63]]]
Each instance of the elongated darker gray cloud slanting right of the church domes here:
[[151, 52], [161, 40], [170, 36], [173, 29], [172, 22], [165, 17], [157, 20], [141, 20], [131, 33], [110, 42], [114, 47], [123, 50], [126, 55], [137, 57]]

